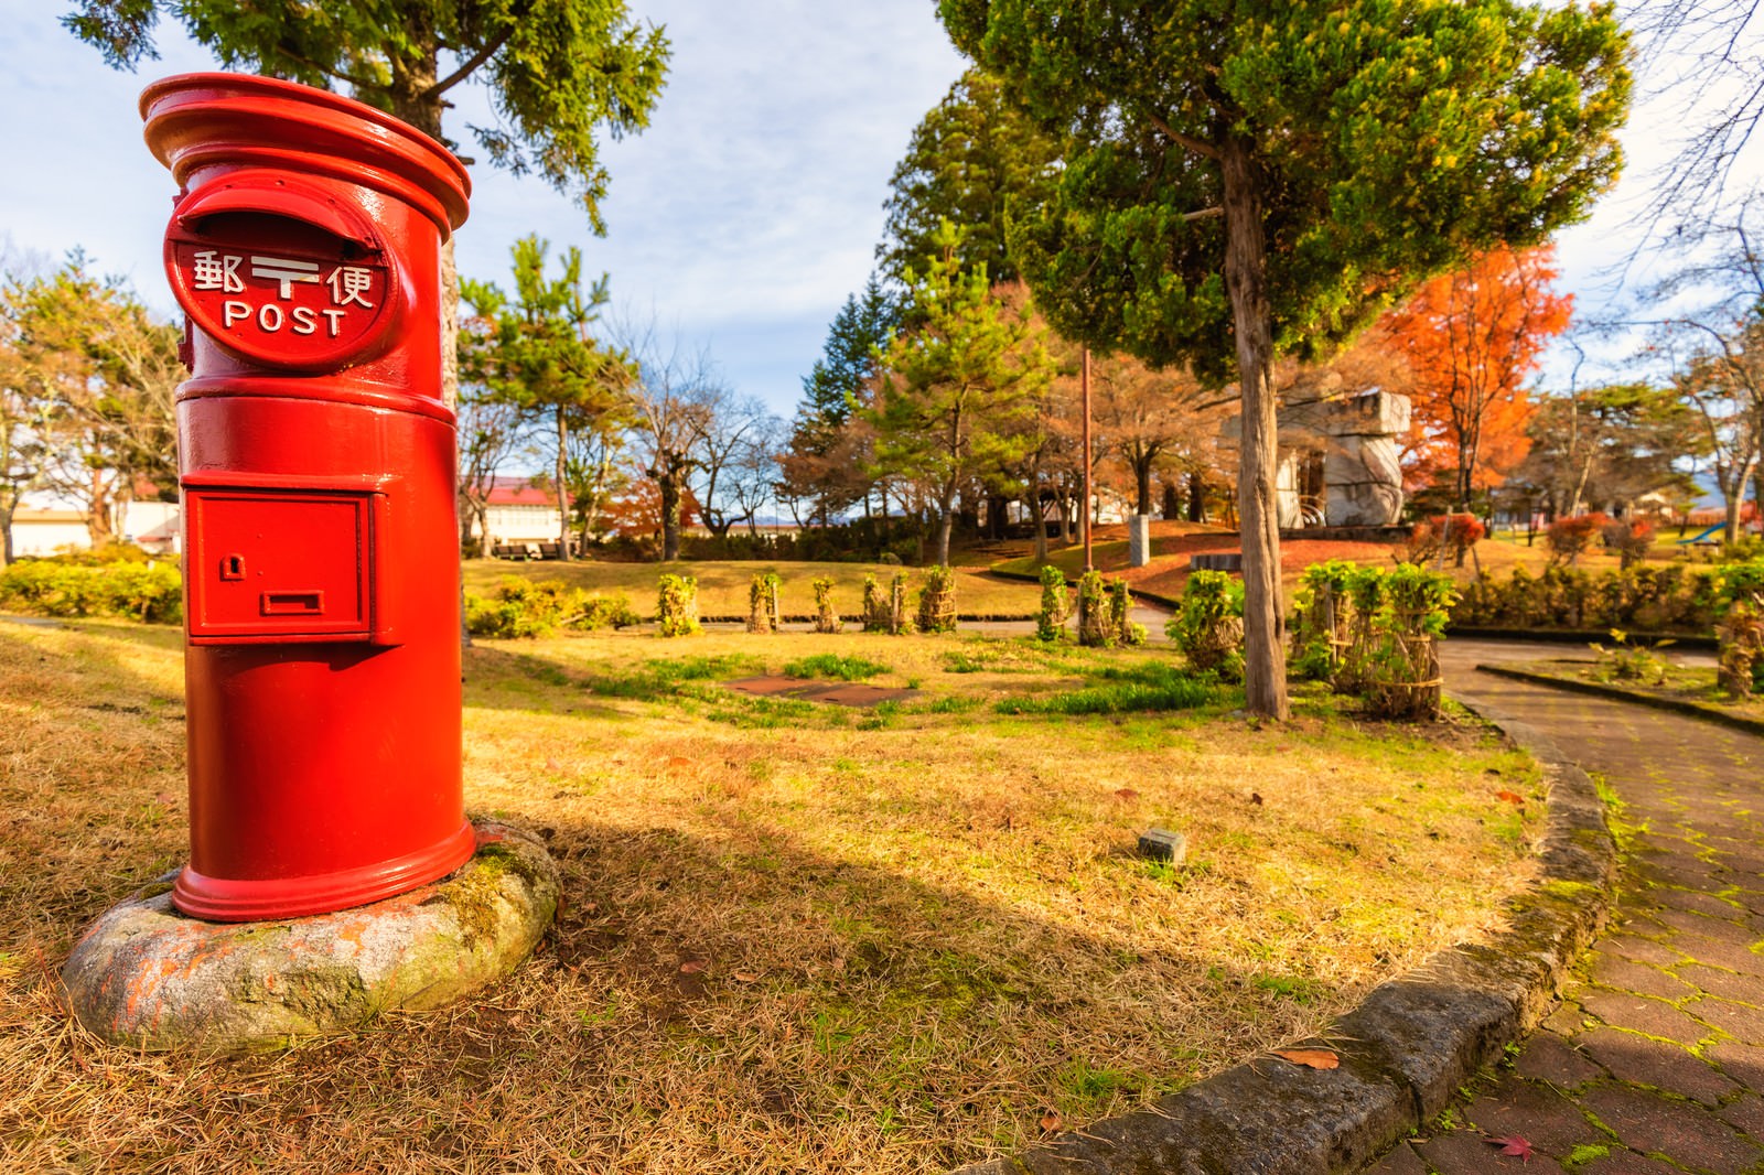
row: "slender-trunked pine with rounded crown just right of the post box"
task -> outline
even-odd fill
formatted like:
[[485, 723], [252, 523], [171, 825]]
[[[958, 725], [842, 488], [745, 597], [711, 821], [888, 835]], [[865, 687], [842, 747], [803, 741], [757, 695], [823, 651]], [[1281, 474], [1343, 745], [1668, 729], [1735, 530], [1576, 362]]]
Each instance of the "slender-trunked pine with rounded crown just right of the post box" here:
[[630, 413], [628, 388], [635, 372], [621, 351], [589, 333], [607, 302], [602, 275], [582, 289], [582, 252], [568, 249], [563, 273], [545, 275], [549, 245], [538, 236], [515, 242], [515, 295], [494, 282], [462, 282], [460, 293], [475, 318], [460, 335], [466, 379], [492, 395], [519, 404], [534, 416], [550, 416], [556, 430], [557, 558], [570, 558], [566, 498], [572, 427], [605, 430]]

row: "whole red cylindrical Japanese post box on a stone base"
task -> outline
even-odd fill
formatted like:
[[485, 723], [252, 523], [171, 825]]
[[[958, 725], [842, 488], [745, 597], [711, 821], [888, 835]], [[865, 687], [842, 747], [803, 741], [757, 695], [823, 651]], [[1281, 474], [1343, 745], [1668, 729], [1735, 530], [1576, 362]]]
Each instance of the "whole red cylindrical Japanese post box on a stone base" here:
[[178, 182], [194, 917], [263, 921], [464, 864], [441, 243], [466, 169], [370, 106], [245, 74], [141, 95]]

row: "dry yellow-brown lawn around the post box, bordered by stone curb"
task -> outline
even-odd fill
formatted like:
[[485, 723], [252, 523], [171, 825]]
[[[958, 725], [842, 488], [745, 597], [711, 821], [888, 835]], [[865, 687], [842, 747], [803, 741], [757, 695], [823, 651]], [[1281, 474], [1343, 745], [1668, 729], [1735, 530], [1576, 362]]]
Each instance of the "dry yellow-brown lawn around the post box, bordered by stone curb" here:
[[[887, 665], [870, 711], [716, 683]], [[935, 1171], [1319, 1029], [1529, 870], [1533, 767], [1302, 700], [1004, 716], [1168, 651], [637, 633], [469, 656], [467, 803], [568, 907], [506, 984], [252, 1059], [71, 1027], [78, 930], [183, 849], [176, 633], [0, 625], [0, 1168]], [[1261, 803], [1252, 797], [1259, 796]], [[1185, 868], [1132, 852], [1187, 833]]]

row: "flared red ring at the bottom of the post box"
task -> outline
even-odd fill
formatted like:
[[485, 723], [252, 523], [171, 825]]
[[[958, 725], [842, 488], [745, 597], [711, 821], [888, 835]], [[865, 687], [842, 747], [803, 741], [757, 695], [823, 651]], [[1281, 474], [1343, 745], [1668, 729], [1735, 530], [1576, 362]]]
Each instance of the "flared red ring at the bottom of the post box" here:
[[265, 923], [277, 917], [332, 914], [383, 902], [446, 877], [469, 861], [476, 847], [478, 840], [466, 822], [452, 836], [420, 852], [316, 877], [238, 880], [205, 877], [183, 866], [173, 886], [171, 903], [180, 912], [210, 923]]

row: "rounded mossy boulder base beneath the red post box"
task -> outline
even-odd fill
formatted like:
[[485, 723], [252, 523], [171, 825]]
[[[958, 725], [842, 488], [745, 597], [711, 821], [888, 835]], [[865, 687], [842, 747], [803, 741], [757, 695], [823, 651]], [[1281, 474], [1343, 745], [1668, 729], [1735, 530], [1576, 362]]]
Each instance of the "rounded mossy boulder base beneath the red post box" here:
[[478, 822], [464, 866], [337, 914], [205, 923], [171, 880], [111, 907], [62, 969], [74, 1014], [132, 1048], [245, 1052], [441, 1007], [512, 972], [557, 912], [557, 864], [519, 829]]

